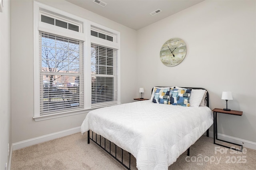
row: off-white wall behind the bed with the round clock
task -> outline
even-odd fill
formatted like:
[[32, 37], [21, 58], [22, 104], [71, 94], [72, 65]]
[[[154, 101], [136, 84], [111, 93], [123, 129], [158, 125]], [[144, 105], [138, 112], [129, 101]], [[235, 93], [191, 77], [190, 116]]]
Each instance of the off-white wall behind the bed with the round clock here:
[[[219, 115], [218, 132], [256, 142], [255, 3], [206, 0], [138, 30], [138, 87], [145, 88], [145, 98], [153, 86], [204, 87], [214, 109], [225, 108], [222, 91], [232, 91], [228, 107], [243, 115]], [[186, 42], [187, 54], [167, 67], [160, 49], [176, 37]]]

